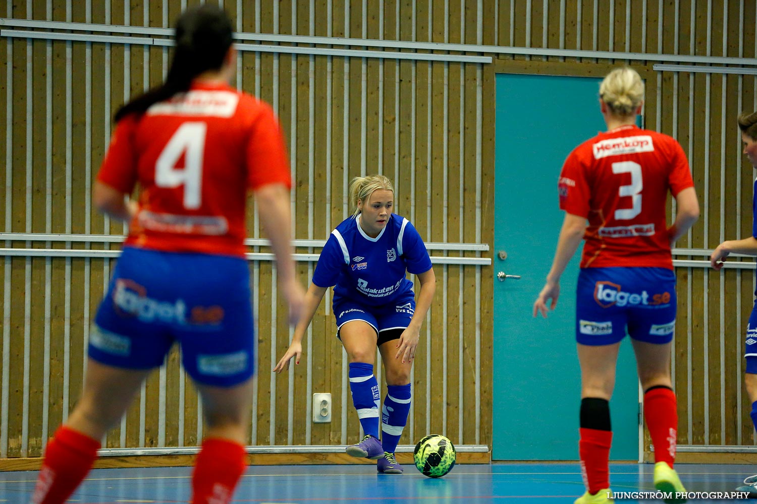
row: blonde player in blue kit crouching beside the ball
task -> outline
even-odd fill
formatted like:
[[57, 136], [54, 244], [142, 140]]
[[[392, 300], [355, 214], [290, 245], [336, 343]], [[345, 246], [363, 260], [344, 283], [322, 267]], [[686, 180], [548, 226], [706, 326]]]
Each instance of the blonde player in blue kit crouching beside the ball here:
[[[351, 456], [378, 459], [378, 472], [400, 474], [402, 466], [394, 459], [394, 450], [410, 413], [410, 368], [436, 279], [418, 231], [407, 218], [392, 213], [394, 188], [388, 178], [354, 178], [350, 203], [356, 208], [354, 215], [332, 231], [323, 247], [305, 295], [304, 316], [273, 370], [281, 373], [288, 369], [292, 357], [300, 363], [307, 326], [326, 289], [334, 286], [337, 337], [350, 361], [352, 400], [366, 434], [346, 451]], [[407, 273], [420, 281], [417, 305]], [[381, 351], [387, 383], [381, 412], [373, 375], [376, 347]]]

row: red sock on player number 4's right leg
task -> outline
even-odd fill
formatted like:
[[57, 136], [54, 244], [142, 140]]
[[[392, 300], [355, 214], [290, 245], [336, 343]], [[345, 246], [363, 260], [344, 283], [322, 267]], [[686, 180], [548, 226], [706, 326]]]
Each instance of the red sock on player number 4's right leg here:
[[192, 475], [192, 504], [226, 504], [245, 472], [245, 447], [225, 439], [205, 439]]

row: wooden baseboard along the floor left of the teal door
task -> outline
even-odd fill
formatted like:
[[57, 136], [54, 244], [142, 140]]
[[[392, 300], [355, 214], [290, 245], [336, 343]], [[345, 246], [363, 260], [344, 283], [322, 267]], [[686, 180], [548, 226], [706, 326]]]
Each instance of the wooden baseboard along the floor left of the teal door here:
[[[374, 460], [356, 459], [347, 453], [248, 453], [248, 465], [335, 465], [375, 464]], [[410, 465], [413, 453], [397, 453], [397, 462]], [[457, 464], [488, 464], [491, 452], [458, 452]], [[95, 461], [95, 468], [124, 467], [187, 467], [194, 465], [195, 455], [104, 456]], [[0, 471], [36, 471], [42, 464], [39, 457], [0, 459]]]

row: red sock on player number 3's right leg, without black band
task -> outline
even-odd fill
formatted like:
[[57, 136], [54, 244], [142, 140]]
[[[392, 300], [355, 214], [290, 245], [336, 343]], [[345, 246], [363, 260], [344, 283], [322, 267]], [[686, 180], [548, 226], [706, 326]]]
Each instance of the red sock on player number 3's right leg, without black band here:
[[675, 393], [670, 388], [653, 388], [644, 394], [644, 419], [655, 446], [655, 462], [675, 462], [675, 438], [678, 410]]

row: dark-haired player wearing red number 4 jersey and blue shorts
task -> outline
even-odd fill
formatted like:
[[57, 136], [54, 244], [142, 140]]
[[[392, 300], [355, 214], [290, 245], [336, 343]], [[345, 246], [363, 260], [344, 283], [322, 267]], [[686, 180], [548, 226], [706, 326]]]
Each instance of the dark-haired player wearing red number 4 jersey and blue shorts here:
[[[166, 81], [117, 111], [92, 202], [129, 236], [89, 332], [82, 397], [45, 449], [31, 498], [62, 504], [173, 347], [202, 398], [192, 502], [226, 504], [247, 467], [255, 373], [245, 210], [254, 193], [290, 322], [304, 291], [291, 257], [291, 180], [273, 110], [229, 86], [229, 17], [213, 5], [176, 24]], [[136, 185], [139, 203], [126, 199]]]

